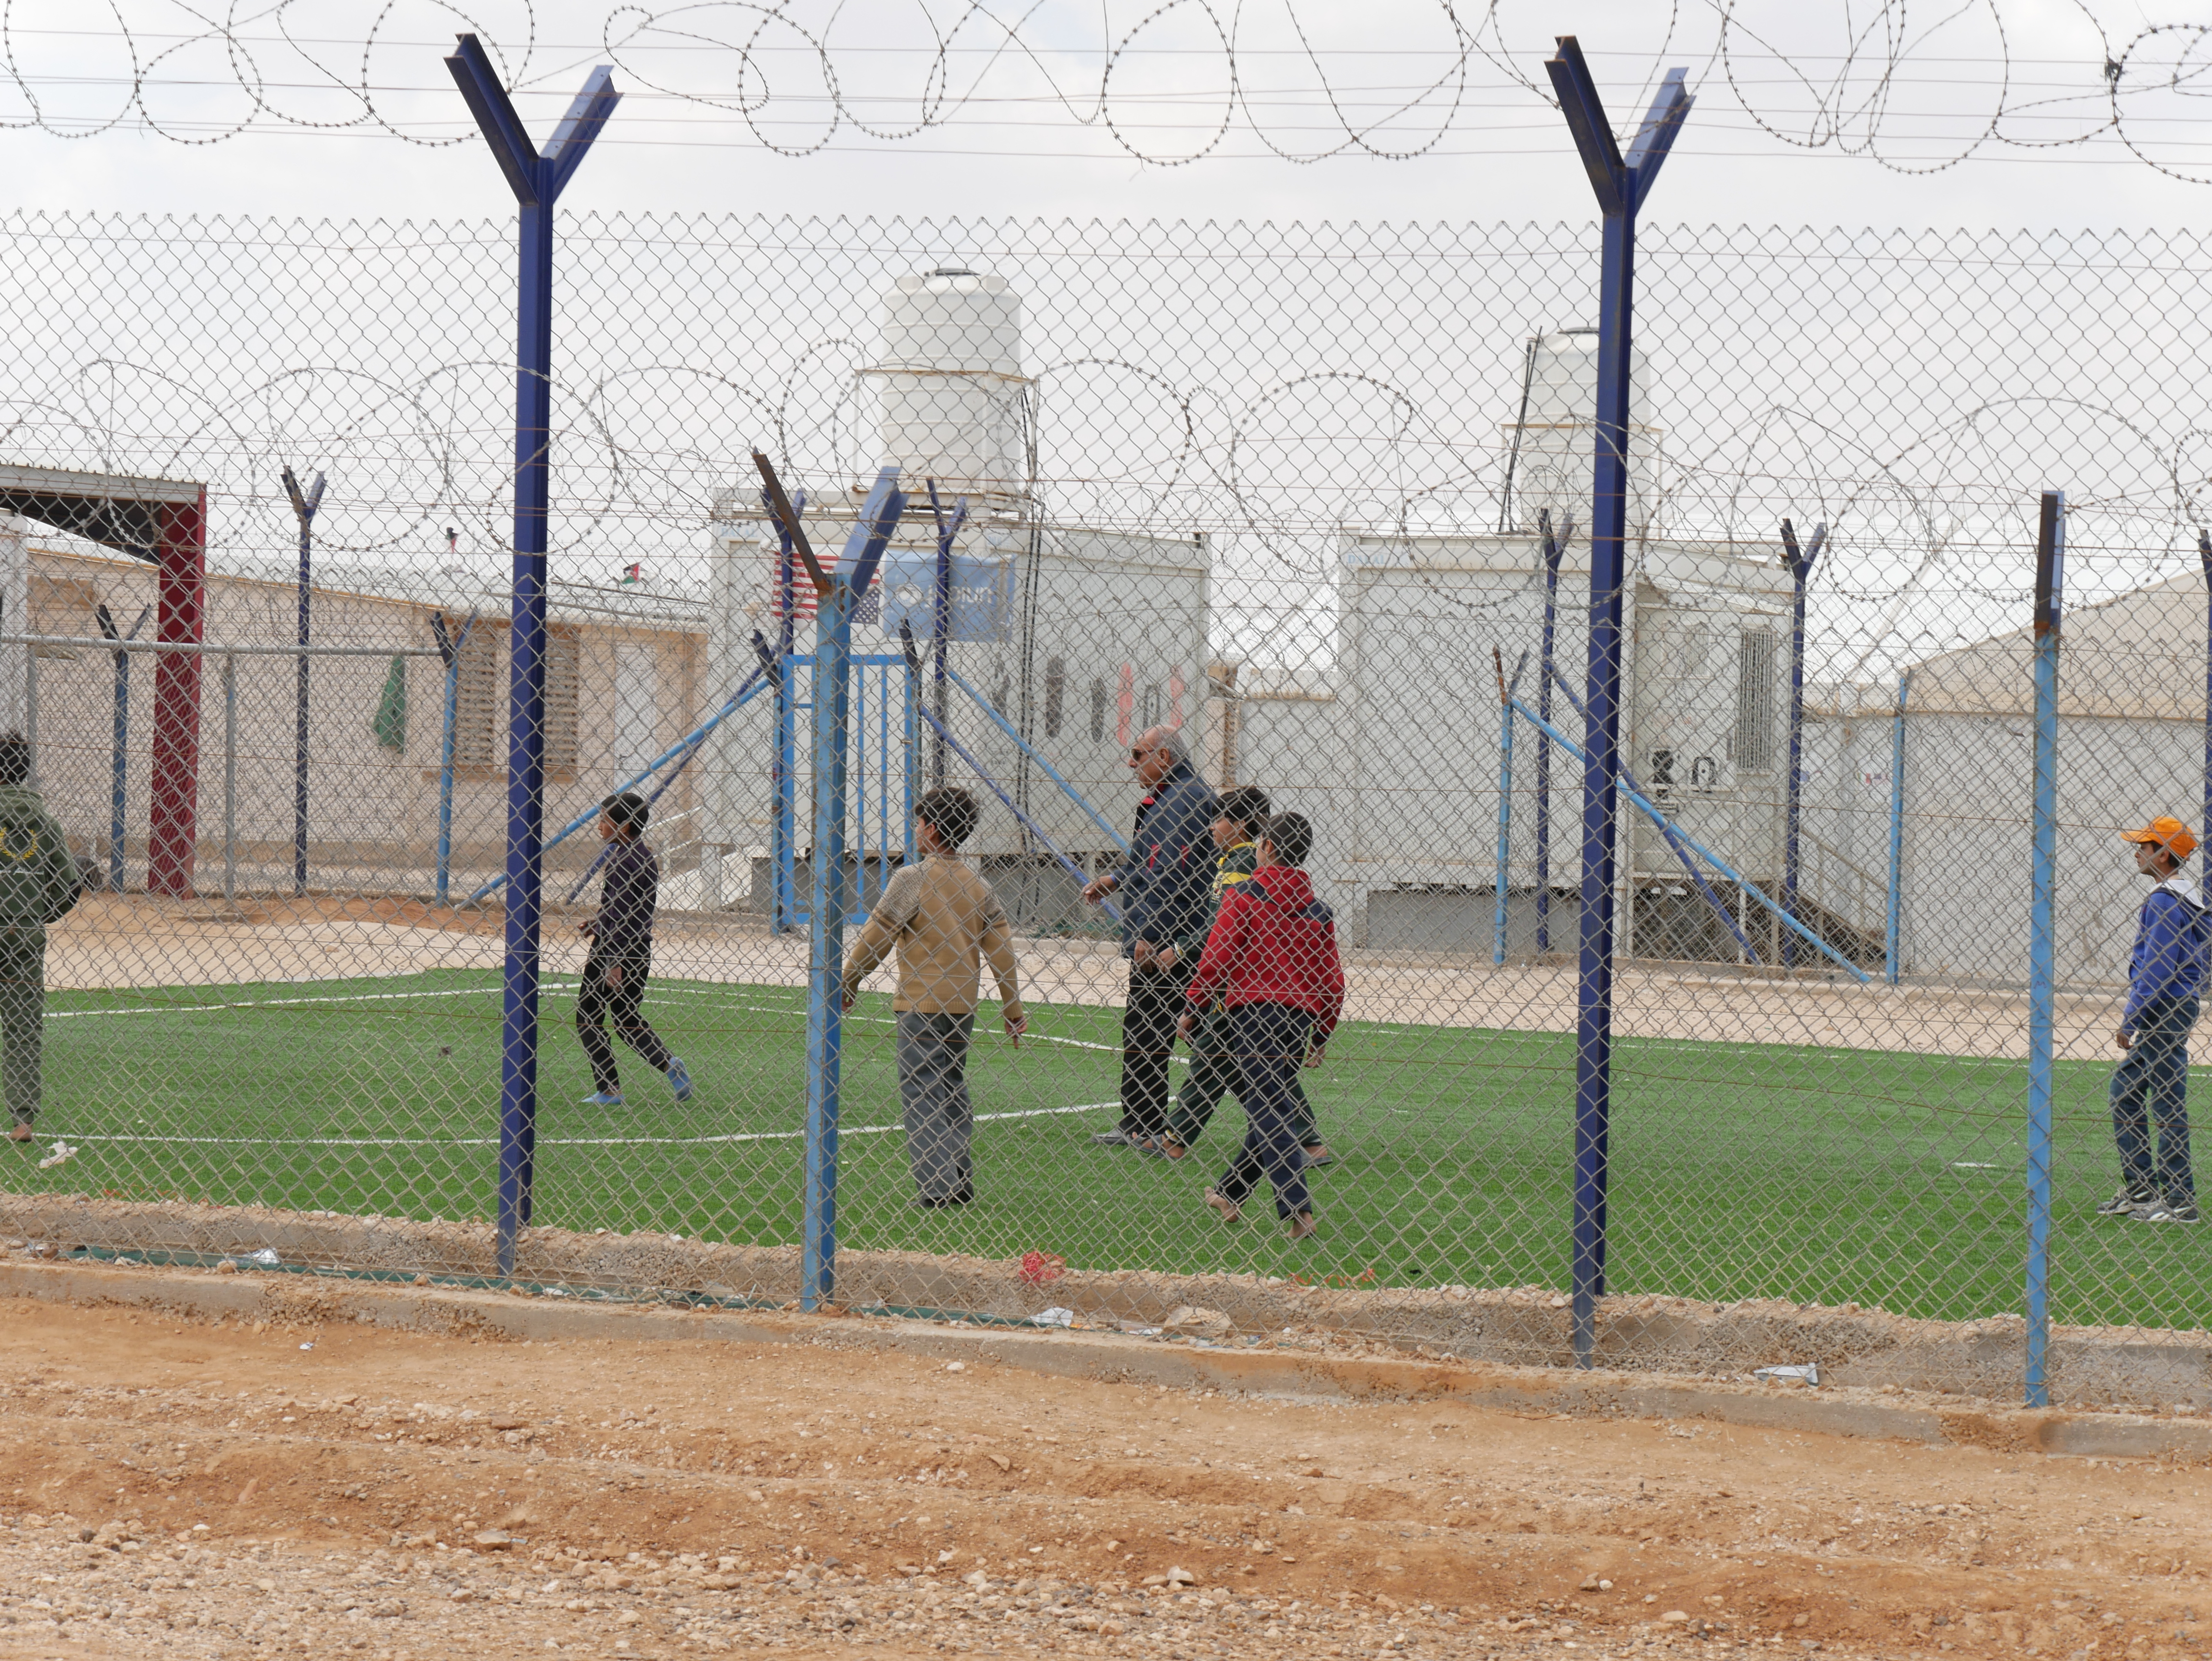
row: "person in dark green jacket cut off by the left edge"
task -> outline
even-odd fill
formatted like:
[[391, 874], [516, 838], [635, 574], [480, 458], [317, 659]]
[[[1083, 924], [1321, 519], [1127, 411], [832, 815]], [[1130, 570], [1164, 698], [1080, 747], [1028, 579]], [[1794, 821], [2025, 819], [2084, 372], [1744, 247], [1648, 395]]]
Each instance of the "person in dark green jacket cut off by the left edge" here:
[[31, 745], [0, 732], [0, 1095], [31, 1141], [38, 1119], [40, 1040], [46, 1026], [46, 924], [84, 894], [69, 838], [31, 790]]

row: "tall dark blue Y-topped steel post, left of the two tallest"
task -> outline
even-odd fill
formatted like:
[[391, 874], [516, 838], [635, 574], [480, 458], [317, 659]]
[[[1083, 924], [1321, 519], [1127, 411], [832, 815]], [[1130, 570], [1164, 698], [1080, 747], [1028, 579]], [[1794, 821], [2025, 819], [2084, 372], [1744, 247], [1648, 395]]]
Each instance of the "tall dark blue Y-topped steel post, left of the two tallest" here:
[[615, 113], [599, 64], [544, 150], [500, 86], [476, 35], [445, 60], [520, 208], [515, 296], [515, 595], [507, 692], [507, 962], [500, 1020], [500, 1274], [531, 1221], [538, 1146], [538, 940], [544, 905], [546, 511], [553, 440], [553, 203]]

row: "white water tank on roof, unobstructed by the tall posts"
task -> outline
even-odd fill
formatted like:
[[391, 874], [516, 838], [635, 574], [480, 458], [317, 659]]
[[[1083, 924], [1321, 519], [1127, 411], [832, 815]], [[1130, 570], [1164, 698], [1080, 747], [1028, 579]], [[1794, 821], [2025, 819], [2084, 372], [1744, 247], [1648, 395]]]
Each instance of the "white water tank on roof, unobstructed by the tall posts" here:
[[940, 265], [883, 296], [883, 460], [905, 489], [1011, 511], [1026, 498], [1029, 380], [1022, 301], [1004, 276]]

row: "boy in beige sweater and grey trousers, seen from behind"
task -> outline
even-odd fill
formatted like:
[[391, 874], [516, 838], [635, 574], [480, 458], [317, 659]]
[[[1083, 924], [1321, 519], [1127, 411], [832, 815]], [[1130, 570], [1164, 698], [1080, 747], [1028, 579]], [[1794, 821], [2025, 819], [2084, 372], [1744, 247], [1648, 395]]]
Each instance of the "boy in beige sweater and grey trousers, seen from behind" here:
[[991, 885], [960, 858], [975, 829], [975, 798], [940, 785], [914, 809], [920, 865], [905, 865], [883, 885], [883, 898], [845, 960], [845, 1009], [860, 982], [898, 947], [898, 1104], [907, 1121], [907, 1159], [922, 1210], [975, 1199], [969, 1146], [975, 1112], [967, 1095], [967, 1046], [975, 1031], [982, 960], [998, 978], [1006, 1033], [1029, 1031], [1013, 973], [1013, 929]]

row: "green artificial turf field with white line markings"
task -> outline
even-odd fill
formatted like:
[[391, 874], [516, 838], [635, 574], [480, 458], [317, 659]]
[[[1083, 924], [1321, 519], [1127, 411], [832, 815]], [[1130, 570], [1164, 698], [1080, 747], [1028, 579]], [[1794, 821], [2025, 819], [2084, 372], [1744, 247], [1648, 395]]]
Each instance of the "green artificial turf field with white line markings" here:
[[[544, 1011], [538, 1223], [799, 1239], [803, 991], [655, 982], [648, 1013], [699, 1082], [688, 1106], [619, 1046], [628, 1106], [582, 1106], [573, 982], [551, 982]], [[1349, 1022], [1305, 1075], [1338, 1163], [1314, 1177], [1321, 1236], [1292, 1245], [1265, 1194], [1241, 1228], [1199, 1203], [1243, 1135], [1234, 1101], [1181, 1163], [1097, 1148], [1091, 1132], [1115, 1121], [1119, 1011], [1037, 1004], [1033, 1022], [1020, 1048], [978, 1033], [978, 1203], [920, 1212], [889, 1000], [860, 1000], [845, 1044], [845, 1245], [1332, 1285], [1566, 1285], [1571, 1035]], [[498, 1033], [491, 973], [55, 993], [40, 1139], [7, 1150], [9, 1185], [487, 1219]], [[1610, 1289], [1942, 1318], [2020, 1309], [2024, 1073], [1619, 1040]], [[2115, 1183], [2106, 1077], [2059, 1064], [2053, 1318], [2208, 1325], [2201, 1228], [2093, 1216]], [[55, 1139], [77, 1152], [40, 1170]]]

